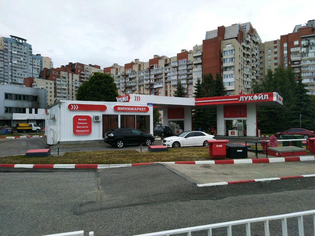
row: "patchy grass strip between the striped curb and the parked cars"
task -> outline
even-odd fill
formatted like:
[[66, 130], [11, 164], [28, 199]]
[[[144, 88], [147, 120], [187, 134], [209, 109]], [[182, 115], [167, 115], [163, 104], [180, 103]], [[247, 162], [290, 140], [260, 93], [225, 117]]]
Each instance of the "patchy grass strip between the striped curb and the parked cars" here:
[[53, 157], [26, 157], [26, 155], [0, 157], [1, 164], [130, 164], [190, 160], [210, 160], [209, 149], [192, 147], [168, 149], [167, 152], [139, 153], [135, 150], [125, 150], [69, 152], [63, 156]]

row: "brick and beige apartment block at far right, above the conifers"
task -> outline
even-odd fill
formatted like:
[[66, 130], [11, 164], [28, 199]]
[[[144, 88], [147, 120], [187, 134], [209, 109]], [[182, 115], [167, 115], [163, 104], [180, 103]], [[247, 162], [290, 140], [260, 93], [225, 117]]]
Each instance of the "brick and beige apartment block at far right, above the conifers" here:
[[315, 20], [295, 25], [292, 33], [280, 39], [259, 44], [259, 80], [263, 81], [268, 69], [274, 71], [279, 65], [291, 68], [307, 85], [308, 94], [315, 94]]

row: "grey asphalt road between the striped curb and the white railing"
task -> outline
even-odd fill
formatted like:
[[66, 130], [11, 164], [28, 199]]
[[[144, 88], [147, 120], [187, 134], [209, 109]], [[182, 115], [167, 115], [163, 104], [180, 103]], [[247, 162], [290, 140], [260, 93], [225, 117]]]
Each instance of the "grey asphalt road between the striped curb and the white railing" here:
[[[300, 165], [288, 164], [276, 166], [275, 174]], [[255, 172], [251, 168], [257, 165], [229, 165], [234, 168], [228, 171]], [[204, 175], [225, 177], [221, 168], [211, 165], [214, 171]], [[128, 236], [315, 209], [314, 177], [200, 188], [187, 174], [161, 164], [102, 170], [1, 168], [0, 235], [84, 230], [86, 235]], [[303, 220], [305, 235], [314, 235], [311, 217]], [[297, 235], [296, 225], [296, 219], [288, 219], [289, 235]], [[244, 235], [245, 227], [232, 229], [233, 235]], [[262, 229], [263, 224], [251, 225], [252, 235], [262, 235]], [[279, 235], [281, 222], [270, 222], [270, 229]], [[213, 234], [226, 235], [226, 230]]]

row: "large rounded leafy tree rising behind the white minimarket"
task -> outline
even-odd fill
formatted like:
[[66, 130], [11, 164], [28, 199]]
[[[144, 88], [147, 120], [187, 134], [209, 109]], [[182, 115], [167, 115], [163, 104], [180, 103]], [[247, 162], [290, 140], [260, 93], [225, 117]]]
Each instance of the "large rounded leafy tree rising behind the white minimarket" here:
[[117, 96], [114, 78], [101, 72], [95, 72], [88, 81], [83, 82], [76, 94], [79, 101], [116, 102]]

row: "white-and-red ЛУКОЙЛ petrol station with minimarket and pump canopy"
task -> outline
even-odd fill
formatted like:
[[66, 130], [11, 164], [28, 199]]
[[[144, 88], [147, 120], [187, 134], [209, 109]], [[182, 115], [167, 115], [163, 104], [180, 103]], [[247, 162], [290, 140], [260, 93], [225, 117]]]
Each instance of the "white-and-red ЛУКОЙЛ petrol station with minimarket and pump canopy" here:
[[[47, 144], [100, 142], [112, 128], [130, 127], [153, 134], [153, 109], [163, 111], [163, 125], [184, 121], [192, 130], [192, 110], [217, 109], [217, 135], [226, 135], [227, 120], [246, 120], [247, 136], [258, 135], [257, 106], [283, 105], [278, 93], [244, 94], [210, 98], [177, 98], [127, 94], [117, 102], [60, 100], [46, 109]], [[229, 135], [238, 136], [229, 131]]]

